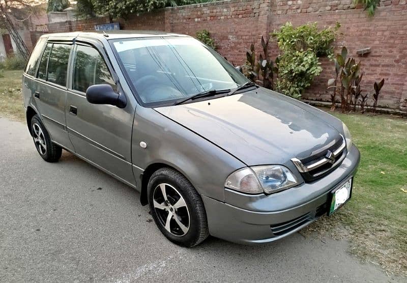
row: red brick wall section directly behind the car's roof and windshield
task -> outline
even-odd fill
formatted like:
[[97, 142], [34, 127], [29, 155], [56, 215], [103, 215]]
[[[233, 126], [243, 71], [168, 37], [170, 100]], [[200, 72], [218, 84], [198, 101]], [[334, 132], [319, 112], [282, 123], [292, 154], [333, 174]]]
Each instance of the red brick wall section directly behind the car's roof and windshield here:
[[260, 44], [269, 34], [271, 0], [231, 0], [165, 9], [165, 30], [194, 36], [208, 30], [218, 52], [230, 62], [242, 64], [254, 40]]

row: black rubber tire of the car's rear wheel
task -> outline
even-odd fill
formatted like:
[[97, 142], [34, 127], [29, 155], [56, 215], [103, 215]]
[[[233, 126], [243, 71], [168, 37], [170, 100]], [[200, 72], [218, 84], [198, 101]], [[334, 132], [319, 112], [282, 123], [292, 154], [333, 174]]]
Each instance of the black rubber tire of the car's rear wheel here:
[[[40, 129], [40, 131], [38, 131], [38, 128]], [[47, 162], [58, 161], [62, 155], [62, 148], [52, 143], [51, 138], [38, 115], [34, 115], [31, 119], [30, 129], [34, 140], [34, 145], [42, 159]], [[41, 137], [41, 140], [45, 142], [45, 146], [42, 146], [44, 143], [40, 145], [41, 142], [38, 141], [38, 139], [36, 141], [36, 138], [38, 136], [37, 132], [40, 132], [39, 136]]]

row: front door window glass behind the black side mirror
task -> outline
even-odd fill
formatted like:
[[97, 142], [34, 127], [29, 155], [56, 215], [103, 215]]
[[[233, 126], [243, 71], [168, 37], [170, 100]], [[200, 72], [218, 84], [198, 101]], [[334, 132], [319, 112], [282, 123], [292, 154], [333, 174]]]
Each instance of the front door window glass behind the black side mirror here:
[[86, 92], [94, 84], [114, 82], [99, 51], [90, 46], [78, 45], [74, 59], [72, 89]]

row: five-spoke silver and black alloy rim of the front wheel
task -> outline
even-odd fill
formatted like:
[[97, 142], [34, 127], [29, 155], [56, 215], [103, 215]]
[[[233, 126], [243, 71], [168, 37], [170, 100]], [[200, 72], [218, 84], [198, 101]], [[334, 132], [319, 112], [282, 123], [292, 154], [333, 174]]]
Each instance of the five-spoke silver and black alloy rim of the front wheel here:
[[174, 236], [184, 236], [189, 231], [190, 216], [184, 198], [169, 184], [159, 184], [153, 193], [153, 206], [160, 223]]

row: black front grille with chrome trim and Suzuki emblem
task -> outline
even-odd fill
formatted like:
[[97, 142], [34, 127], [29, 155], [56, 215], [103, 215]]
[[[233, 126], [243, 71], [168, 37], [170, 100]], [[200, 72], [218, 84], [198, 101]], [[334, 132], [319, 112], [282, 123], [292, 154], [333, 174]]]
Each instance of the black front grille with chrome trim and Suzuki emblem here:
[[338, 167], [345, 158], [346, 142], [343, 136], [332, 146], [303, 159], [291, 159], [296, 165], [305, 182], [312, 182], [329, 174]]

